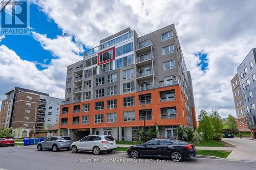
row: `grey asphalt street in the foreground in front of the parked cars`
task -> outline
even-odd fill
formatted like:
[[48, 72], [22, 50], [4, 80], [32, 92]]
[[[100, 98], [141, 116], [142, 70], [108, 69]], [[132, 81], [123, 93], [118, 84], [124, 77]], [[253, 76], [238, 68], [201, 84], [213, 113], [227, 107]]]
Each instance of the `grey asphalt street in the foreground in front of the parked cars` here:
[[0, 148], [0, 169], [255, 169], [256, 162], [189, 158], [173, 163], [164, 159], [132, 159], [123, 152], [37, 151], [36, 146]]

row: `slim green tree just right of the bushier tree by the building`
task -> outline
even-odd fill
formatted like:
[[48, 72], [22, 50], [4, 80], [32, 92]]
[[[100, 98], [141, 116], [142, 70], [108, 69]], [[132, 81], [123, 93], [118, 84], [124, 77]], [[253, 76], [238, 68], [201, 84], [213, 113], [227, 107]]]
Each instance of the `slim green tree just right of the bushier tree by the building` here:
[[220, 141], [223, 133], [221, 116], [217, 110], [212, 110], [210, 114], [212, 126], [214, 126], [214, 139]]

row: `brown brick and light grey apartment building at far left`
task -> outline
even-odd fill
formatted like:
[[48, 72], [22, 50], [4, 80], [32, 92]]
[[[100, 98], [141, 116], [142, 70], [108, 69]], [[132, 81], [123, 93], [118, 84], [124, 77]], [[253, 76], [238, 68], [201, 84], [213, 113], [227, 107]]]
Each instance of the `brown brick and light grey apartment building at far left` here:
[[12, 127], [14, 137], [29, 137], [56, 124], [60, 104], [57, 99], [34, 90], [14, 87], [5, 93], [2, 101], [0, 128]]

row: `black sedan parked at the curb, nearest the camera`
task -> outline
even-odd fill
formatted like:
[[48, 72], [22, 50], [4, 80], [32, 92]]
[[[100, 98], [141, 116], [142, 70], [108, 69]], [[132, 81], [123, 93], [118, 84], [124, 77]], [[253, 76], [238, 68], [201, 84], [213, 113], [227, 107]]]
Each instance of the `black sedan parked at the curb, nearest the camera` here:
[[132, 158], [163, 157], [181, 162], [184, 158], [195, 157], [197, 150], [194, 144], [179, 140], [153, 139], [144, 144], [135, 145], [127, 150]]

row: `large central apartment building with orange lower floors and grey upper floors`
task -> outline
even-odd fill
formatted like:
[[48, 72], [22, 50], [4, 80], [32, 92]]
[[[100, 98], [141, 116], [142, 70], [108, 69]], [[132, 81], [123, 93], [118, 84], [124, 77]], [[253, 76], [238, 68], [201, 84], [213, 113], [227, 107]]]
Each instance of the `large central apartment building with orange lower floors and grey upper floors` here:
[[174, 25], [138, 37], [127, 28], [99, 41], [69, 65], [59, 133], [78, 140], [111, 134], [139, 140], [145, 129], [177, 138], [196, 128], [193, 86]]

